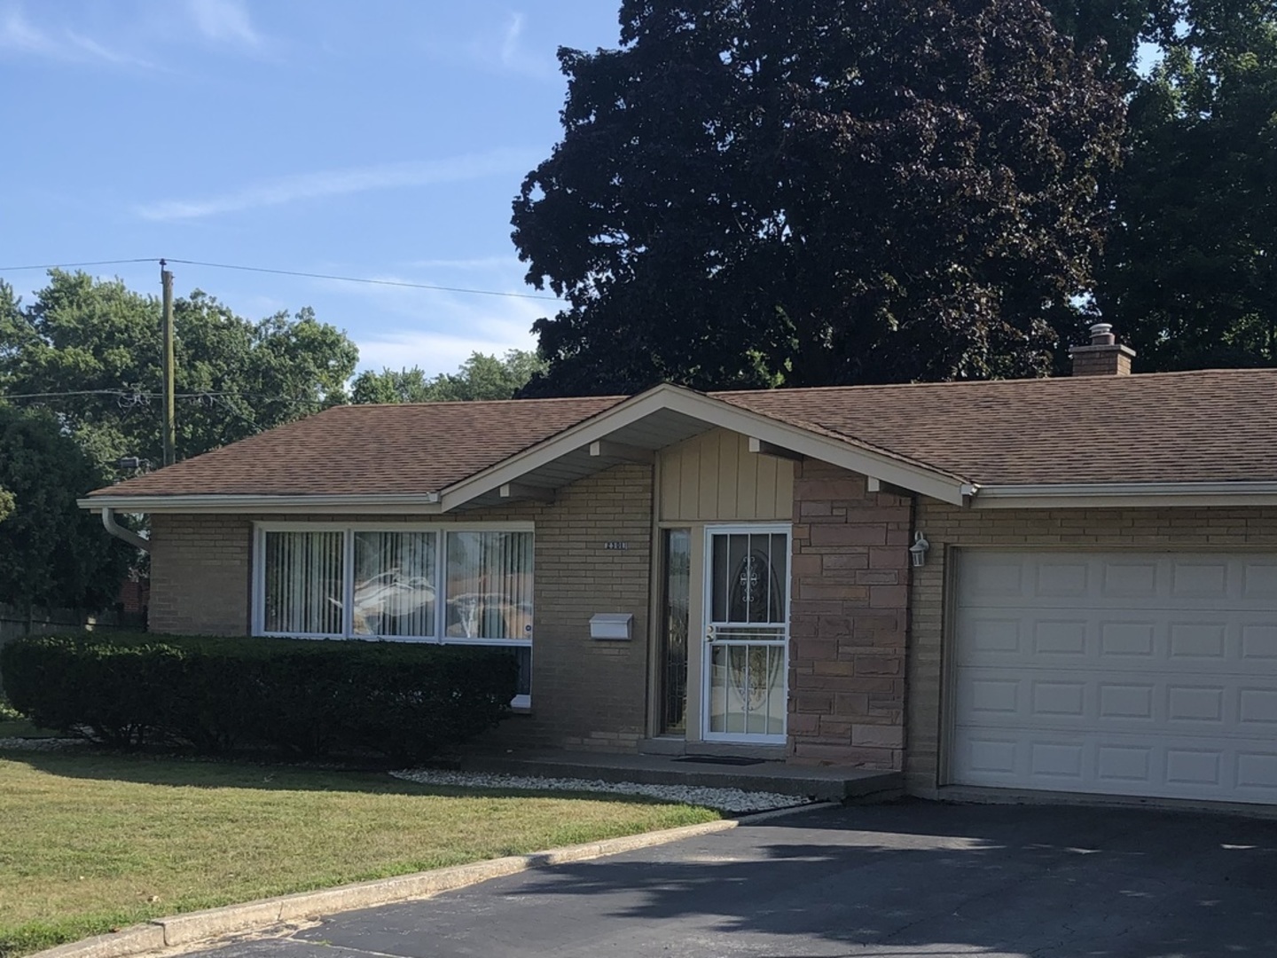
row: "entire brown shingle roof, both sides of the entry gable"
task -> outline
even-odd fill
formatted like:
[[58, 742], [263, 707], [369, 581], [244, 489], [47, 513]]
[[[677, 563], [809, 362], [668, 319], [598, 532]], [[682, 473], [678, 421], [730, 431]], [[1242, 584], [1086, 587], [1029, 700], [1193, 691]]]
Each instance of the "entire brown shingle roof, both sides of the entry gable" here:
[[[1277, 480], [1277, 369], [711, 396], [982, 485]], [[623, 400], [338, 406], [93, 494], [438, 492]]]

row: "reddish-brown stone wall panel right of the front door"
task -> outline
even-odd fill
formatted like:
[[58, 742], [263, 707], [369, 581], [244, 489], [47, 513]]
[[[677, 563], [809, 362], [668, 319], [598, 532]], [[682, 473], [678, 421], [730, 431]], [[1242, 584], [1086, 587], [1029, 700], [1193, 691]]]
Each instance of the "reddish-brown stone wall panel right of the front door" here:
[[911, 503], [805, 461], [794, 475], [792, 761], [900, 769]]

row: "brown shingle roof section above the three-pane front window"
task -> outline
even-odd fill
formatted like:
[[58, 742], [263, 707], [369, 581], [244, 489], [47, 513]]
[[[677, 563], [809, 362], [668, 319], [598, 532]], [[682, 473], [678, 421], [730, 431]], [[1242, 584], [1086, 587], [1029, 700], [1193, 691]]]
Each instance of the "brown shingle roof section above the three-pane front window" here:
[[91, 494], [438, 492], [623, 399], [333, 406]]

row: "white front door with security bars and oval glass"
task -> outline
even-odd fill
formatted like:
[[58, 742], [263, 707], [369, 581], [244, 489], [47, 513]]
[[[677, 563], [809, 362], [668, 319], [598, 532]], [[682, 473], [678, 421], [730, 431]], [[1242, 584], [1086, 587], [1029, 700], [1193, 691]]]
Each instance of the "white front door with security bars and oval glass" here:
[[705, 545], [704, 738], [783, 745], [789, 526], [715, 526]]

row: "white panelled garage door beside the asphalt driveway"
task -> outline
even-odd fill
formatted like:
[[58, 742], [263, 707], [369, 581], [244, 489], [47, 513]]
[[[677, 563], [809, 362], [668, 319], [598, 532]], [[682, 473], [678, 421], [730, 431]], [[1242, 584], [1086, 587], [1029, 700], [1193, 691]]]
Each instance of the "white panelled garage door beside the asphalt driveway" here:
[[1277, 554], [958, 556], [958, 784], [1277, 803]]

